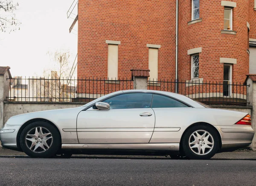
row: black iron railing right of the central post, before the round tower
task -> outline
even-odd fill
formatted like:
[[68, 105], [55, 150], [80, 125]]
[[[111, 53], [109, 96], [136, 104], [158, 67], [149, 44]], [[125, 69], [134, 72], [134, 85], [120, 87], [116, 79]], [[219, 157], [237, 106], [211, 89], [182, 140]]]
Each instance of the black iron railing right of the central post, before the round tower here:
[[178, 93], [203, 102], [207, 105], [237, 105], [246, 106], [247, 87], [241, 83], [214, 82], [214, 81], [179, 81], [172, 80], [149, 80], [149, 90], [162, 90], [175, 92], [177, 84]]

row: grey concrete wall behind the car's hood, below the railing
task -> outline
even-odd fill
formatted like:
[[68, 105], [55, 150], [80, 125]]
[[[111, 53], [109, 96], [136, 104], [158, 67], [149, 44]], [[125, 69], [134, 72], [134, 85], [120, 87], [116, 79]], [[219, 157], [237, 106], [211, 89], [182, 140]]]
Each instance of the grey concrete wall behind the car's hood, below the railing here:
[[42, 110], [55, 110], [62, 108], [75, 108], [83, 106], [85, 103], [44, 103], [44, 102], [4, 102], [3, 108], [3, 123], [5, 123], [10, 117], [18, 114], [30, 113]]

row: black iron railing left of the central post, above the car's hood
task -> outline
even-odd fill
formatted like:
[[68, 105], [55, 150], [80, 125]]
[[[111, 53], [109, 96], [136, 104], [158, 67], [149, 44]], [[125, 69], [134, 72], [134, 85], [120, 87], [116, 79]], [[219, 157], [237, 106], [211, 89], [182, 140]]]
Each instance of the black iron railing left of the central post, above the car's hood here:
[[9, 79], [9, 101], [89, 102], [118, 90], [133, 89], [128, 78], [21, 78]]

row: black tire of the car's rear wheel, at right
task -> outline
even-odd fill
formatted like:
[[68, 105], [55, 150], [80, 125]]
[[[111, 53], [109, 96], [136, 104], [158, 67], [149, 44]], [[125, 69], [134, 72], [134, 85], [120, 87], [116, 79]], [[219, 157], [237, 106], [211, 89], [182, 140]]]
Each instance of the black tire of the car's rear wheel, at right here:
[[[192, 149], [189, 146], [189, 138], [192, 134], [195, 133], [195, 131], [207, 131], [211, 136], [209, 137], [210, 139], [213, 139], [213, 145], [209, 145], [212, 147], [212, 149], [210, 150], [210, 148], [205, 148], [205, 154], [203, 154], [203, 151], [200, 150], [199, 152], [199, 148], [193, 148], [194, 151], [192, 151]], [[192, 137], [193, 139], [193, 137]], [[198, 139], [199, 140], [199, 139]], [[192, 140], [193, 142], [193, 140]], [[200, 141], [199, 141], [200, 142]], [[203, 143], [204, 144], [204, 143]], [[181, 150], [183, 151], [183, 153], [192, 160], [208, 160], [211, 157], [213, 157], [218, 149], [219, 149], [219, 145], [220, 144], [220, 140], [218, 137], [218, 133], [215, 131], [215, 129], [211, 126], [208, 125], [195, 125], [192, 126], [191, 128], [189, 128], [187, 131], [185, 131], [183, 138], [181, 139]], [[198, 150], [198, 152], [195, 152], [196, 150]], [[196, 154], [196, 153], [200, 153], [202, 155]]]

